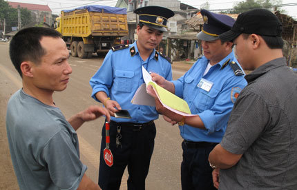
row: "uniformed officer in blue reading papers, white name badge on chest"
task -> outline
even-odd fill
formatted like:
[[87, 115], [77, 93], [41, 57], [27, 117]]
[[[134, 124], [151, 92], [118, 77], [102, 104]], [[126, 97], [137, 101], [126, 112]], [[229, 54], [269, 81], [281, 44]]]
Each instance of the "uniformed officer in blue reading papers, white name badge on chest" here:
[[221, 41], [219, 34], [230, 30], [235, 22], [224, 14], [207, 10], [200, 12], [204, 19], [198, 33], [204, 56], [177, 81], [166, 81], [151, 74], [156, 81], [188, 103], [195, 116], [181, 116], [162, 107], [157, 110], [172, 124], [179, 122], [183, 160], [181, 166], [182, 189], [215, 189], [209, 152], [222, 140], [227, 121], [240, 91], [247, 85], [242, 68], [236, 60], [230, 41]]

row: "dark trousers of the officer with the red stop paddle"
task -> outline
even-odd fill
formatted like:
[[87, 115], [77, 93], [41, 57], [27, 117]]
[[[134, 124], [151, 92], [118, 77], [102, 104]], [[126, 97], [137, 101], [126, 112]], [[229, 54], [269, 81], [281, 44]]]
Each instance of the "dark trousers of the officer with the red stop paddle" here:
[[[121, 146], [116, 147], [117, 126], [121, 127]], [[102, 129], [102, 142], [99, 165], [99, 186], [104, 190], [119, 189], [125, 168], [128, 166], [128, 190], [145, 189], [145, 179], [155, 144], [155, 124], [133, 125], [133, 123], [110, 123], [110, 149], [113, 154], [113, 166], [104, 161], [106, 147], [105, 125]]]

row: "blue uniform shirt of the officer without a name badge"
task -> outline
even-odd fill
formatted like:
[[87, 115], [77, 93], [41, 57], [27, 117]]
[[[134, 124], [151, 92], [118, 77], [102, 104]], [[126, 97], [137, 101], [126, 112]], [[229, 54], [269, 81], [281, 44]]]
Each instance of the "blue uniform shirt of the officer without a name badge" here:
[[131, 119], [114, 118], [115, 122], [146, 123], [158, 118], [155, 107], [147, 105], [133, 105], [131, 100], [144, 79], [142, 77], [142, 65], [148, 72], [160, 74], [166, 80], [172, 80], [171, 63], [159, 56], [155, 50], [147, 60], [143, 61], [138, 52], [136, 41], [129, 48], [122, 50], [110, 50], [106, 55], [102, 66], [90, 78], [93, 88], [92, 97], [104, 91], [113, 101], [117, 101], [122, 109], [128, 109]]

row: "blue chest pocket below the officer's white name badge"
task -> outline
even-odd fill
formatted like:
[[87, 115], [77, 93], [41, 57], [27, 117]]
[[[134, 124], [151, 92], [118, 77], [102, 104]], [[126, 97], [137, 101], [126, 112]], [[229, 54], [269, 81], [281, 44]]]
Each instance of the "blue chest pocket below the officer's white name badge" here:
[[199, 88], [198, 94], [194, 99], [194, 105], [196, 109], [198, 109], [198, 112], [200, 113], [204, 110], [211, 109], [215, 104], [215, 98], [217, 98], [219, 93], [220, 91], [214, 87], [212, 87], [209, 92]]

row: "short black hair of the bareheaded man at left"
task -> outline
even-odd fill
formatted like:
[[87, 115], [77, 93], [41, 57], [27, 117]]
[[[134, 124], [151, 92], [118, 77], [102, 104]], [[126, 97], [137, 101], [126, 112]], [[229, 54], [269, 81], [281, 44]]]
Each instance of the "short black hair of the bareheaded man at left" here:
[[40, 40], [44, 36], [61, 38], [61, 34], [51, 28], [30, 27], [19, 30], [10, 41], [10, 60], [21, 76], [21, 63], [23, 61], [32, 61], [39, 64], [41, 57], [46, 54], [40, 44]]

